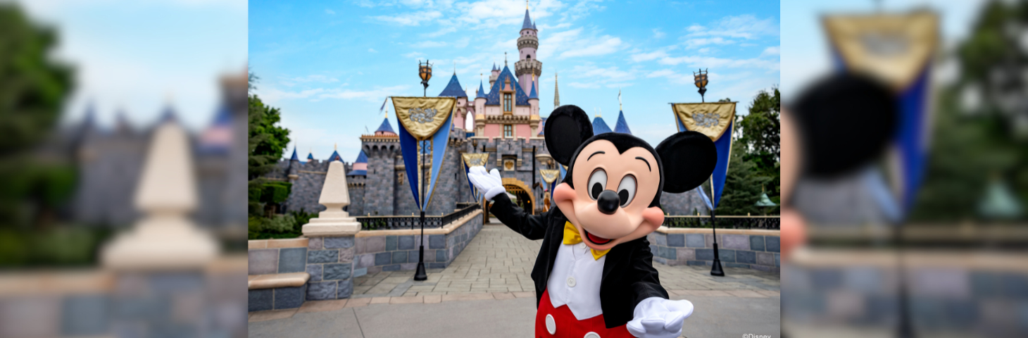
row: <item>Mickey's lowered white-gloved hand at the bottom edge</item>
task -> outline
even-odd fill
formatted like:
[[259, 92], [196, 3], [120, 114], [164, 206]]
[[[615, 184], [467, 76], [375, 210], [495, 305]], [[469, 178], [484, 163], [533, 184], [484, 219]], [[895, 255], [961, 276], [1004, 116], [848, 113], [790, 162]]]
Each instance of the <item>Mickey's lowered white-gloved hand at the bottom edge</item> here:
[[674, 338], [682, 335], [682, 322], [693, 314], [693, 303], [650, 297], [635, 305], [632, 314], [632, 320], [626, 325], [632, 336]]

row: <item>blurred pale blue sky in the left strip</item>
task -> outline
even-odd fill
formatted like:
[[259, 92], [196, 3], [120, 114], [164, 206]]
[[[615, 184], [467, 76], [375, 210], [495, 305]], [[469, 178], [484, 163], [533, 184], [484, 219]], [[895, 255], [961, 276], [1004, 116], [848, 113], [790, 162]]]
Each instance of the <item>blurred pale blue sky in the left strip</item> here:
[[94, 105], [102, 127], [113, 125], [118, 110], [145, 127], [171, 104], [198, 130], [221, 102], [219, 77], [247, 66], [246, 0], [15, 2], [57, 29], [52, 57], [75, 70], [65, 123], [81, 121]]

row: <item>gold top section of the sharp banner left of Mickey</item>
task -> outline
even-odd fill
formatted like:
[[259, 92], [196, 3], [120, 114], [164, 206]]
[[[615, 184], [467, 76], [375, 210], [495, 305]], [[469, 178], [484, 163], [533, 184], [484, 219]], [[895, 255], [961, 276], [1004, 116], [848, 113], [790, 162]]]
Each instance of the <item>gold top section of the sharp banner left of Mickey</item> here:
[[454, 98], [393, 97], [397, 119], [417, 141], [432, 138], [446, 122], [455, 106]]

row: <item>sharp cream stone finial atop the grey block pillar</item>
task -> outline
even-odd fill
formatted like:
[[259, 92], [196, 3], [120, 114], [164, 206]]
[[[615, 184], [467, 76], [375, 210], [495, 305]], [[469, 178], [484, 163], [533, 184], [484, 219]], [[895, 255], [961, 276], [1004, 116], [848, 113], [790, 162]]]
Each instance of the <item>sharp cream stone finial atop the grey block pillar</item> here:
[[318, 218], [310, 219], [310, 223], [303, 225], [303, 234], [307, 237], [353, 235], [361, 230], [361, 223], [350, 217], [350, 213], [342, 211], [343, 206], [350, 205], [350, 191], [346, 190], [346, 173], [342, 162], [334, 160], [328, 164], [318, 203], [327, 209], [318, 213]]

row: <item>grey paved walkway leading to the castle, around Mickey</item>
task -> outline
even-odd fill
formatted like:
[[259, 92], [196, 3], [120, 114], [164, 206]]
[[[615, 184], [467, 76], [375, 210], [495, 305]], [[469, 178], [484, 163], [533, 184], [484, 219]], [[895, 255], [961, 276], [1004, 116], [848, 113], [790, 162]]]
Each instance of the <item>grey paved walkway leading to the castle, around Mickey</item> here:
[[[530, 337], [536, 313], [528, 275], [542, 240], [528, 240], [502, 224], [486, 224], [446, 269], [383, 271], [355, 279], [348, 300], [308, 301], [299, 309], [250, 313], [250, 337]], [[779, 276], [725, 268], [656, 263], [672, 299], [688, 299], [696, 313], [684, 335], [778, 337]]]

